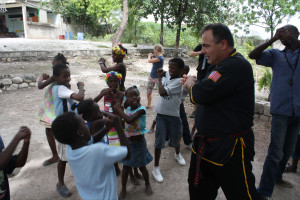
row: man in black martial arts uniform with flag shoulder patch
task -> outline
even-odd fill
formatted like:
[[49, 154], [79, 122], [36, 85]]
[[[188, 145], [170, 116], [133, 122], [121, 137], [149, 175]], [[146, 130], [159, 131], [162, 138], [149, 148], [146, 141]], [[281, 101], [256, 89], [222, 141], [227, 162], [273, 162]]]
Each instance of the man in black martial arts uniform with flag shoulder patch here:
[[234, 49], [230, 30], [210, 24], [202, 30], [202, 54], [211, 65], [205, 78], [184, 76], [197, 104], [189, 169], [190, 199], [260, 199], [252, 173], [254, 79], [250, 63]]

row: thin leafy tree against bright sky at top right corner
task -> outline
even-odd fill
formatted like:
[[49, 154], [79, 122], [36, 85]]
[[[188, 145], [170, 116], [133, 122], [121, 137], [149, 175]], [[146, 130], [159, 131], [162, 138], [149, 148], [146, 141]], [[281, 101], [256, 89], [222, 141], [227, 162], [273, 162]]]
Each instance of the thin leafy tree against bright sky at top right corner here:
[[278, 24], [299, 11], [299, 0], [248, 0], [248, 5], [243, 6], [241, 21], [247, 26], [256, 25], [271, 31], [272, 38]]

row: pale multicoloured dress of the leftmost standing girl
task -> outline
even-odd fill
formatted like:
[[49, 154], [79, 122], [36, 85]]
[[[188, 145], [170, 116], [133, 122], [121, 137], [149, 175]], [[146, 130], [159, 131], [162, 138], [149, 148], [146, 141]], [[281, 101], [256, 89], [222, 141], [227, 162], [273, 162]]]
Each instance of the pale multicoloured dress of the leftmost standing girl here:
[[45, 91], [44, 99], [38, 113], [40, 123], [46, 128], [51, 128], [51, 124], [56, 118], [54, 111], [54, 101], [52, 95], [52, 88], [56, 85], [56, 82], [53, 82], [49, 85]]

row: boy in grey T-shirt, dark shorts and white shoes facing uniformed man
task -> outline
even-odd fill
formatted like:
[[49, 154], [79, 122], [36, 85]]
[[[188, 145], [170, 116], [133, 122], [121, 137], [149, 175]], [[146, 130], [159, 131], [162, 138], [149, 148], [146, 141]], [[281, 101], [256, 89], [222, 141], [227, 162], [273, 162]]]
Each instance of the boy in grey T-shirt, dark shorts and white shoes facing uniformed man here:
[[[159, 159], [161, 150], [165, 146], [166, 136], [170, 138], [169, 146], [175, 147], [175, 159], [179, 165], [186, 162], [180, 154], [179, 140], [182, 137], [182, 124], [179, 115], [180, 97], [182, 85], [180, 77], [183, 74], [184, 62], [180, 58], [173, 58], [169, 61], [169, 73], [163, 69], [157, 70], [159, 97], [156, 102], [154, 112], [156, 115], [155, 132], [155, 163], [152, 175], [157, 182], [163, 182], [163, 177], [159, 169]], [[162, 83], [162, 77], [165, 81]]]

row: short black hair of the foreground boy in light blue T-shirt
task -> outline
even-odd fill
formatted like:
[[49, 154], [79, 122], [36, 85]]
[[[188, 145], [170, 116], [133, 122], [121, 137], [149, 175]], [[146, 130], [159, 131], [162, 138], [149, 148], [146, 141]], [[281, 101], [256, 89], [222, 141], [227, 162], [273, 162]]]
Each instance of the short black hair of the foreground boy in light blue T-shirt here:
[[72, 144], [79, 129], [79, 122], [74, 112], [66, 112], [52, 122], [55, 139], [62, 144]]

